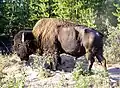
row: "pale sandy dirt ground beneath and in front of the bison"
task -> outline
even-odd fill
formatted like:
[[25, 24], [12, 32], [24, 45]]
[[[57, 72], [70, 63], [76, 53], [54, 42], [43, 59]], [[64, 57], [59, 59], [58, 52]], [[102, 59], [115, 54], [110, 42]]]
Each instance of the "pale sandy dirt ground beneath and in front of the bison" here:
[[[83, 57], [77, 61], [74, 57], [69, 55], [61, 55], [62, 64], [59, 66], [60, 71], [50, 72], [50, 77], [42, 78], [39, 75], [40, 70], [34, 67], [34, 59], [41, 58], [36, 55], [30, 56], [29, 65], [22, 63], [17, 56], [10, 58], [10, 63], [3, 69], [3, 73], [6, 73], [7, 77], [14, 75], [14, 77], [22, 77], [25, 73], [25, 85], [24, 88], [74, 88], [75, 81], [72, 78], [72, 71], [76, 62], [83, 62], [84, 69], [87, 68], [88, 62]], [[38, 63], [43, 65], [41, 61]], [[37, 65], [37, 66], [39, 66]], [[111, 88], [116, 88], [116, 85], [120, 85], [120, 64], [107, 65], [110, 78]], [[100, 66], [95, 63], [93, 69], [100, 69]], [[52, 74], [52, 76], [51, 76]]]

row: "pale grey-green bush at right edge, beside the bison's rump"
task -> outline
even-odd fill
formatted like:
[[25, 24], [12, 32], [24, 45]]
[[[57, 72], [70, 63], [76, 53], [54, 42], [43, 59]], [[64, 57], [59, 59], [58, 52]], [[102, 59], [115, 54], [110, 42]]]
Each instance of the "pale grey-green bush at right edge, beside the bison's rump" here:
[[104, 55], [109, 63], [120, 61], [120, 28], [109, 27], [108, 38], [104, 46]]

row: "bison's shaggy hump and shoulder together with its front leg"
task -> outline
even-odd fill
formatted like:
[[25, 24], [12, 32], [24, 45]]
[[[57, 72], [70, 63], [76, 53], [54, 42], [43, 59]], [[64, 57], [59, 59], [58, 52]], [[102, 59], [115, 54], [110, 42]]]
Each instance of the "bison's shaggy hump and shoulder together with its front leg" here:
[[[62, 51], [60, 44], [56, 44], [58, 43], [56, 41], [58, 34], [57, 30], [61, 25], [72, 26], [75, 24], [70, 21], [59, 20], [55, 18], [43, 18], [35, 24], [32, 30], [34, 37], [38, 41], [41, 55], [43, 53], [51, 55], [54, 58], [53, 64], [58, 62], [57, 60], [60, 58], [59, 54]], [[55, 65], [53, 65], [51, 68], [54, 70], [56, 69]]]

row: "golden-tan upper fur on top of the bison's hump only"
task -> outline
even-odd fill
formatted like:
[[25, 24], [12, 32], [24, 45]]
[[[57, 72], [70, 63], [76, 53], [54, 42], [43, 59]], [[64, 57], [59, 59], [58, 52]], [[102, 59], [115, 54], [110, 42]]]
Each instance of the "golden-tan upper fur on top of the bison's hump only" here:
[[35, 38], [38, 38], [39, 35], [46, 37], [49, 36], [51, 33], [56, 32], [57, 27], [64, 25], [64, 26], [72, 26], [75, 25], [73, 22], [66, 21], [66, 20], [59, 20], [55, 18], [43, 18], [39, 20], [35, 26], [33, 27], [33, 35]]

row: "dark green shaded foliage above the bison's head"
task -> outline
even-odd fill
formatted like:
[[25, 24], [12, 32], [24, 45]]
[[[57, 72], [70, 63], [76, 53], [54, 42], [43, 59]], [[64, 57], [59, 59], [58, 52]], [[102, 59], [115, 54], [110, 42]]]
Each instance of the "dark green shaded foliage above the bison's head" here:
[[[13, 29], [23, 29], [28, 26], [29, 10], [28, 0], [5, 0], [2, 3], [2, 19], [6, 21], [5, 25], [2, 25], [5, 33], [11, 33]], [[2, 23], [2, 22], [1, 22]]]

